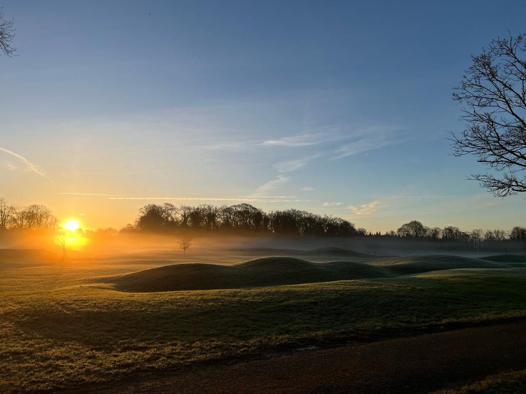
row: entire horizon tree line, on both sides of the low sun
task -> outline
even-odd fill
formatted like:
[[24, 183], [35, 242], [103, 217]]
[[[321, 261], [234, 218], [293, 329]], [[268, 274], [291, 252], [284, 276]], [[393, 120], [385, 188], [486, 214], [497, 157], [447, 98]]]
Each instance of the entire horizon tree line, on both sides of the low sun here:
[[[44, 205], [16, 206], [0, 198], [0, 230], [53, 230], [59, 221]], [[141, 233], [251, 233], [301, 237], [381, 237], [408, 240], [466, 242], [526, 242], [526, 227], [515, 226], [510, 231], [461, 231], [458, 227], [428, 227], [417, 220], [402, 224], [396, 231], [368, 232], [340, 217], [318, 215], [297, 209], [265, 212], [250, 204], [214, 206], [176, 206], [170, 203], [148, 204], [139, 209], [135, 223], [120, 230], [113, 228], [90, 231], [77, 230], [87, 236], [109, 237], [119, 232]]]

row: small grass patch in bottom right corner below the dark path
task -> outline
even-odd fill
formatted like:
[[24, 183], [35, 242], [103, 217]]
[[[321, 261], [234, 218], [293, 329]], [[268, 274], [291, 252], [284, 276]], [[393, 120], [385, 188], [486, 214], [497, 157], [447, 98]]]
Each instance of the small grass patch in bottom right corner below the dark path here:
[[520, 394], [526, 392], [526, 370], [492, 375], [470, 385], [433, 394]]

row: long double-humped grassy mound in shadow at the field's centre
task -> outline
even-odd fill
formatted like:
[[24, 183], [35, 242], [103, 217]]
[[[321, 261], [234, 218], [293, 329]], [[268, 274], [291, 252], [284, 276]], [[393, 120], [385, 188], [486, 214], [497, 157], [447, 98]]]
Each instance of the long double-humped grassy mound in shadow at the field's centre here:
[[355, 262], [311, 263], [295, 257], [261, 257], [236, 265], [174, 264], [105, 278], [130, 292], [166, 292], [331, 282], [388, 277], [383, 267]]

